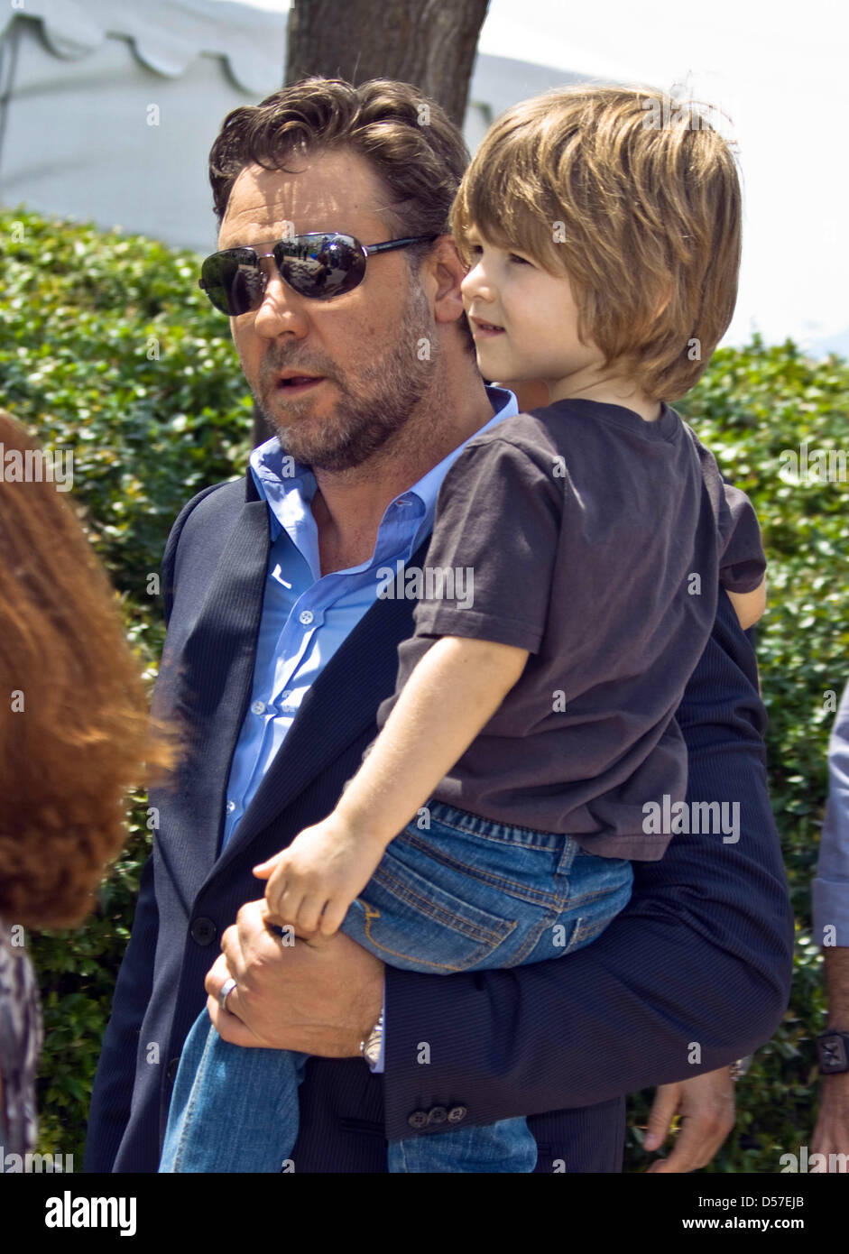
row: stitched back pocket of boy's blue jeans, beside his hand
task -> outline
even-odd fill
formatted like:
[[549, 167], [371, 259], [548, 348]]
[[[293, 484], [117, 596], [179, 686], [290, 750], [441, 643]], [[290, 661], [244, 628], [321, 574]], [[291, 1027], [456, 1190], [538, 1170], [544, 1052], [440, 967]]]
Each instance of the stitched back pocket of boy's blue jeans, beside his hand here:
[[435, 864], [428, 873], [418, 874], [388, 849], [351, 905], [344, 930], [391, 967], [467, 971], [503, 944], [517, 919], [458, 897], [461, 875]]

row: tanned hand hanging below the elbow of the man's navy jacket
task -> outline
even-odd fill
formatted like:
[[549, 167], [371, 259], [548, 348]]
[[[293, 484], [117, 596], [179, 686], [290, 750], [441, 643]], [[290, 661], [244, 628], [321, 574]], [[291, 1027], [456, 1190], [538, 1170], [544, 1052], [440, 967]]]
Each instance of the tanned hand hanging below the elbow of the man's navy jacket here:
[[660, 1150], [676, 1115], [681, 1131], [667, 1159], [650, 1171], [696, 1171], [706, 1166], [734, 1127], [734, 1080], [729, 1067], [706, 1071], [692, 1080], [661, 1085], [648, 1115], [645, 1150]]

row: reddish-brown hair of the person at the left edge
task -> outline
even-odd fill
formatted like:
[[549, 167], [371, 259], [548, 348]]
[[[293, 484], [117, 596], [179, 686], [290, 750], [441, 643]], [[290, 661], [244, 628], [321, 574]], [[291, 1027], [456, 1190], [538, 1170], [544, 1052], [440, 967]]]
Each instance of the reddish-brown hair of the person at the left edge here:
[[0, 410], [0, 914], [55, 928], [93, 908], [125, 840], [125, 790], [145, 766], [163, 777], [177, 740], [149, 724], [115, 592], [70, 504], [40, 470], [4, 473], [43, 456]]

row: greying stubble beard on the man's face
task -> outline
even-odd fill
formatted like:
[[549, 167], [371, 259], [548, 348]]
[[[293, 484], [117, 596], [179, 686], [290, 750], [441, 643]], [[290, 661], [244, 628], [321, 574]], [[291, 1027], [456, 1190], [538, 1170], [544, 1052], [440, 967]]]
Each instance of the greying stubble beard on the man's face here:
[[[428, 357], [420, 360], [421, 342], [426, 341]], [[433, 312], [418, 276], [411, 276], [410, 293], [401, 325], [382, 356], [375, 355], [371, 345], [364, 345], [366, 360], [355, 380], [339, 379], [336, 362], [322, 361], [319, 356], [298, 356], [296, 361], [275, 357], [271, 352], [262, 365], [262, 376], [288, 366], [325, 375], [340, 389], [332, 415], [316, 421], [311, 399], [293, 400], [286, 405], [293, 423], [278, 419], [253, 399], [271, 429], [277, 435], [283, 453], [317, 470], [340, 472], [359, 466], [386, 448], [413, 418], [416, 408], [435, 391], [440, 374], [440, 357]], [[268, 385], [266, 385], [268, 386]], [[303, 415], [298, 421], [300, 414]]]

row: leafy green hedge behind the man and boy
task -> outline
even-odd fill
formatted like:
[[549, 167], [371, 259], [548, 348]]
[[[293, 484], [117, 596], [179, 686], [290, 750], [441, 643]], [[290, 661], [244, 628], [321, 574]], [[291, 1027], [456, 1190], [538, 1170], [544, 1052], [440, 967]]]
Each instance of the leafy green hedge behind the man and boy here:
[[[197, 287], [198, 258], [139, 237], [0, 211], [0, 405], [46, 446], [73, 448], [74, 499], [123, 599], [127, 630], [149, 670], [162, 647], [162, 604], [148, 576], [181, 505], [243, 473], [252, 403], [224, 319]], [[727, 477], [751, 497], [770, 559], [759, 628], [770, 712], [774, 808], [798, 917], [790, 1009], [737, 1086], [736, 1131], [711, 1171], [775, 1171], [810, 1144], [811, 1038], [821, 1031], [820, 951], [810, 937], [813, 877], [831, 722], [849, 656], [846, 484], [786, 482], [781, 453], [845, 448], [849, 367], [811, 362], [759, 337], [719, 351], [678, 406]], [[82, 1165], [85, 1110], [115, 974], [149, 845], [144, 798], [128, 813], [124, 855], [80, 930], [41, 933], [33, 953], [44, 998], [43, 1150]], [[626, 1170], [645, 1164], [635, 1095]]]

